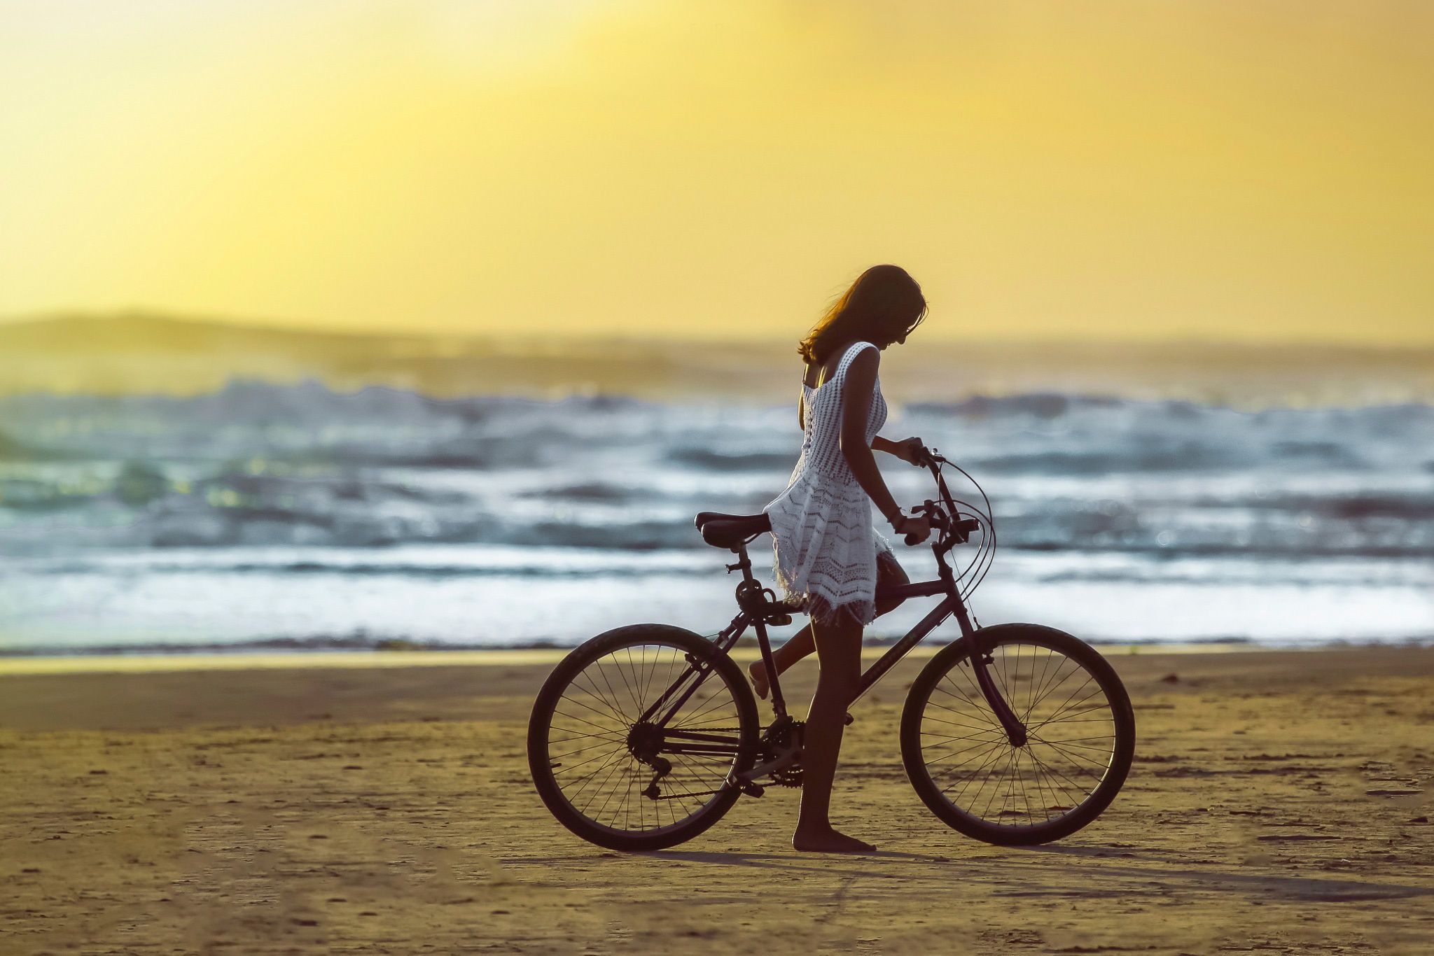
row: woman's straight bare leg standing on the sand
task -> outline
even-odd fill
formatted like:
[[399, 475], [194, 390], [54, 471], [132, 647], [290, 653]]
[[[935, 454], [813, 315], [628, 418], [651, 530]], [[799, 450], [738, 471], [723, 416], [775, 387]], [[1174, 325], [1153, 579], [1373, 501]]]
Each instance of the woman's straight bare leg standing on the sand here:
[[846, 708], [862, 674], [862, 625], [850, 618], [816, 629], [822, 662], [802, 745], [802, 816], [792, 846], [813, 853], [870, 853], [875, 847], [832, 828], [832, 778], [842, 750]]

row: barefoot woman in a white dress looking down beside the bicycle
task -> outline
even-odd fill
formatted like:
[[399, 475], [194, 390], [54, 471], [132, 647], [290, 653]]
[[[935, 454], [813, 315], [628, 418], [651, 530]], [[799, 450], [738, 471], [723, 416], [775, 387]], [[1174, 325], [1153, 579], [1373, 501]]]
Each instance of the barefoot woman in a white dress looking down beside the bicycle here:
[[[797, 421], [802, 456], [787, 489], [763, 512], [771, 519], [777, 582], [804, 601], [812, 621], [773, 654], [777, 672], [812, 654], [822, 665], [802, 750], [802, 814], [792, 846], [819, 853], [869, 853], [875, 847], [837, 833], [827, 810], [842, 748], [846, 708], [856, 697], [862, 628], [898, 602], [876, 605], [876, 582], [905, 582], [891, 545], [872, 527], [872, 503], [898, 535], [931, 535], [925, 517], [901, 513], [872, 450], [919, 463], [921, 439], [889, 441], [876, 368], [880, 351], [906, 341], [926, 314], [921, 287], [895, 265], [862, 272], [797, 345], [806, 360]], [[767, 695], [766, 666], [751, 681]]]

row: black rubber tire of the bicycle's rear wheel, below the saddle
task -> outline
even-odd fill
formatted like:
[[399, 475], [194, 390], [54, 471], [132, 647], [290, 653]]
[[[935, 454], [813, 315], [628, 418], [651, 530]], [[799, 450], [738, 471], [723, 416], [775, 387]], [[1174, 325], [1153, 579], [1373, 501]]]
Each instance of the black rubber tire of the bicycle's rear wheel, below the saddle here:
[[[528, 722], [528, 768], [532, 773], [538, 795], [564, 827], [588, 843], [594, 843], [609, 850], [624, 851], [661, 850], [664, 847], [677, 846], [678, 843], [691, 840], [721, 820], [721, 817], [731, 810], [737, 797], [741, 795], [740, 790], [736, 787], [723, 785], [720, 793], [713, 794], [706, 800], [706, 803], [684, 818], [677, 820], [674, 814], [673, 821], [667, 826], [661, 826], [661, 816], [654, 807], [655, 821], [660, 826], [641, 830], [628, 830], [625, 827], [604, 824], [602, 821], [584, 813], [582, 808], [574, 806], [574, 801], [568, 798], [562, 784], [556, 778], [556, 770], [554, 767], [555, 761], [551, 750], [554, 745], [551, 744], [554, 717], [555, 714], [559, 714], [558, 705], [564, 699], [568, 688], [574, 687], [575, 681], [579, 679], [579, 675], [582, 675], [591, 665], [615, 652], [637, 646], [665, 646], [684, 656], [690, 655], [691, 658], [700, 661], [713, 661], [713, 674], [707, 677], [707, 682], [714, 678], [721, 681], [726, 691], [731, 695], [734, 717], [737, 718], [740, 744], [737, 757], [731, 761], [731, 770], [747, 770], [756, 761], [759, 747], [757, 704], [753, 698], [751, 688], [747, 685], [747, 681], [737, 664], [726, 654], [718, 654], [716, 646], [701, 635], [670, 625], [638, 623], [607, 631], [575, 648], [558, 664], [556, 668], [554, 668], [552, 674], [548, 675], [548, 679], [543, 682], [542, 689], [538, 692], [538, 698], [533, 702], [532, 715]], [[704, 682], [704, 687], [707, 684]], [[652, 692], [655, 694], [660, 691]], [[645, 695], [640, 694], [637, 697], [641, 699], [635, 699], [634, 709], [647, 702]], [[611, 720], [614, 724], [618, 724], [621, 718], [625, 717], [628, 715], [619, 714]], [[635, 722], [635, 720], [632, 722]], [[628, 727], [631, 727], [631, 724], [628, 724]], [[615, 737], [617, 731], [608, 731], [608, 734], [611, 738]], [[621, 752], [615, 748], [612, 752], [614, 760], [621, 763]], [[631, 758], [630, 754], [630, 763], [637, 765], [638, 761]], [[640, 806], [640, 814], [641, 813], [642, 810]], [[645, 820], [641, 821], [645, 823]]]

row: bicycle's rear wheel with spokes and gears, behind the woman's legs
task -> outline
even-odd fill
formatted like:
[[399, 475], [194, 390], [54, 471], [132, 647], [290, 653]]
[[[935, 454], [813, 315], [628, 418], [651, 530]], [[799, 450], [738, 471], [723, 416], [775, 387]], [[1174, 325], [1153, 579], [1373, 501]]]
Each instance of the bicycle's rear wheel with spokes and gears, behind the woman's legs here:
[[[665, 724], [665, 714], [711, 671]], [[675, 691], [650, 720], [644, 714]], [[611, 850], [658, 850], [717, 823], [756, 760], [757, 705], [740, 668], [691, 631], [641, 623], [601, 634], [562, 659], [528, 722], [528, 767], [548, 810]]]

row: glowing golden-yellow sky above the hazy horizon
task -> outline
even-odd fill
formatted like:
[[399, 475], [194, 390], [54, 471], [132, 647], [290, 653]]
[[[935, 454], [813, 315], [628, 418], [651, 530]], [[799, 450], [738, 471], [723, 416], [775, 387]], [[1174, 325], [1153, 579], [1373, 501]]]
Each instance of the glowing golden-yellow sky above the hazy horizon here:
[[1434, 3], [0, 0], [0, 314], [1434, 341]]

